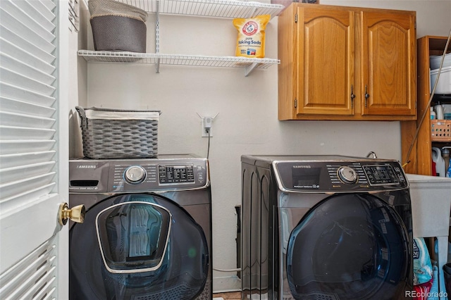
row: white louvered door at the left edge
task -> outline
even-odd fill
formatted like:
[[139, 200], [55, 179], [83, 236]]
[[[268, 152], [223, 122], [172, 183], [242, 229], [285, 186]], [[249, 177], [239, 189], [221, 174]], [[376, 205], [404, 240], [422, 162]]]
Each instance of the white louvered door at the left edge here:
[[[60, 13], [62, 12], [62, 13]], [[67, 299], [68, 2], [0, 0], [0, 299]]]

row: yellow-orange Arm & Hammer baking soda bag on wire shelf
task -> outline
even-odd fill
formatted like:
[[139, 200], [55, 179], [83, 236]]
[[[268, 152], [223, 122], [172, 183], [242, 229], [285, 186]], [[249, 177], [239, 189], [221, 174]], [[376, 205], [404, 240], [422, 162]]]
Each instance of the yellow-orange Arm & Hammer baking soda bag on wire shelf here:
[[233, 25], [238, 30], [236, 56], [265, 57], [265, 30], [270, 19], [271, 15], [233, 19]]

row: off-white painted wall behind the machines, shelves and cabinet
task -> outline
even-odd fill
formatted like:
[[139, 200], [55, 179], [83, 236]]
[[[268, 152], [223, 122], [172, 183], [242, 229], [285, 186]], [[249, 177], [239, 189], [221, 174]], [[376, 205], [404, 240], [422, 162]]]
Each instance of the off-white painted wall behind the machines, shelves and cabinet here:
[[[421, 35], [447, 35], [451, 27], [449, 0], [321, 0], [321, 3], [418, 9], [417, 32]], [[151, 16], [147, 22], [148, 52], [154, 49], [153, 21]], [[161, 53], [235, 54], [236, 31], [232, 20], [161, 15], [160, 27]], [[93, 49], [87, 31], [88, 47]], [[271, 20], [266, 30], [266, 57], [278, 57], [277, 18]], [[161, 65], [160, 73], [156, 74], [154, 65], [89, 63], [87, 101], [81, 97], [80, 102], [82, 106], [161, 110], [160, 154], [206, 156], [208, 140], [201, 137], [197, 113], [203, 116], [218, 113], [209, 153], [213, 265], [231, 269], [236, 268], [235, 205], [241, 201], [242, 154], [366, 156], [369, 151], [375, 151], [380, 158], [401, 158], [399, 122], [278, 121], [277, 83], [277, 65], [267, 70], [254, 70], [245, 77], [241, 68]], [[79, 148], [77, 141], [73, 142], [73, 149]], [[235, 289], [240, 289], [235, 272], [214, 272], [215, 292]]]

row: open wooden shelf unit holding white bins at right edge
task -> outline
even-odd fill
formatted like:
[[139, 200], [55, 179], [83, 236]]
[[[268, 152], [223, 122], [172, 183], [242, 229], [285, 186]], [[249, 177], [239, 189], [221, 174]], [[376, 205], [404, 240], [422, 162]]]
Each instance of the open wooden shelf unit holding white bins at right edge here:
[[[431, 139], [431, 122], [429, 117], [428, 102], [431, 98], [431, 76], [429, 73], [429, 56], [443, 55], [447, 37], [426, 36], [417, 40], [418, 55], [418, 120], [401, 122], [402, 137], [402, 163], [406, 173], [432, 175], [432, 154], [433, 146], [441, 148], [451, 146], [451, 142], [433, 142]], [[447, 53], [451, 52], [451, 45], [447, 48]], [[451, 104], [451, 95], [435, 95], [432, 105], [436, 101], [442, 104]], [[426, 118], [421, 123], [421, 117], [426, 111]], [[418, 137], [415, 139], [416, 131]], [[414, 142], [412, 146], [412, 142]], [[412, 148], [412, 151], [409, 149]], [[408, 155], [409, 154], [409, 155]]]

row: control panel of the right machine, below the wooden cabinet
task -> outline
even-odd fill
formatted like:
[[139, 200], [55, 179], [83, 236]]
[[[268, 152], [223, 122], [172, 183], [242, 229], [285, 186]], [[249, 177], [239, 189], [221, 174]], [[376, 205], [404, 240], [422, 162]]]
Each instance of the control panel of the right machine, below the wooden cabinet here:
[[312, 192], [376, 191], [407, 187], [397, 161], [274, 161], [282, 190]]

